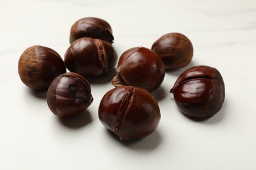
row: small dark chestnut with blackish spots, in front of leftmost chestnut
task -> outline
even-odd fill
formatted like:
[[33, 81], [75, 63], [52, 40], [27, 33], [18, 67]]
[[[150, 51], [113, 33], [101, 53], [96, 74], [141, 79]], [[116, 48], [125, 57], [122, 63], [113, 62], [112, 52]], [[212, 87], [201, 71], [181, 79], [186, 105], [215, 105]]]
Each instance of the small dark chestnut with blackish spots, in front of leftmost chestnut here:
[[93, 102], [91, 86], [77, 73], [57, 76], [47, 91], [49, 109], [59, 118], [69, 118], [87, 109]]

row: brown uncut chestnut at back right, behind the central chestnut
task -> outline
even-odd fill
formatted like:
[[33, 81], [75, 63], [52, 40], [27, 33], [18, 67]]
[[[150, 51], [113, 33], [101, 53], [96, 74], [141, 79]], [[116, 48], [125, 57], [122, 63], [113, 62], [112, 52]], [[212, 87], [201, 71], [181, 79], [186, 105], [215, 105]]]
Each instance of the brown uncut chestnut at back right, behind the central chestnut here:
[[180, 69], [190, 63], [193, 46], [181, 33], [167, 33], [161, 36], [151, 48], [163, 60], [165, 69]]

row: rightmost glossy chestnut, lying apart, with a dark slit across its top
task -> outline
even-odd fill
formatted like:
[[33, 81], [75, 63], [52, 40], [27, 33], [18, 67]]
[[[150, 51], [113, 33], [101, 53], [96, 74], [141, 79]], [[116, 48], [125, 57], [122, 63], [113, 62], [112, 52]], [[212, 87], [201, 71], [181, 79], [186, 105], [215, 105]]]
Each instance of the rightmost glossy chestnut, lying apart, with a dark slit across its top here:
[[213, 67], [200, 65], [182, 73], [171, 93], [183, 114], [190, 118], [210, 118], [224, 103], [225, 88], [221, 73]]

